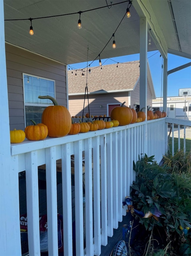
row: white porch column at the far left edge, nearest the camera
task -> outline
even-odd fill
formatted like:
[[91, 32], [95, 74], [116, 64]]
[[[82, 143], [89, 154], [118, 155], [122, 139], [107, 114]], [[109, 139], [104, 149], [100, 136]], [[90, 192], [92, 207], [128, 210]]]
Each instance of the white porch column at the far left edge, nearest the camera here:
[[[4, 7], [0, 1], [0, 255], [21, 255], [18, 172], [11, 164]], [[15, 164], [17, 161], [15, 161]]]

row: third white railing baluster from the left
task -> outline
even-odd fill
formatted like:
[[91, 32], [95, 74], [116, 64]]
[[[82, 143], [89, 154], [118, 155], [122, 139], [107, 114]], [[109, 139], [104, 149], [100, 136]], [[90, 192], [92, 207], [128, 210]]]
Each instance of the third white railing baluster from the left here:
[[70, 143], [61, 146], [64, 255], [72, 255], [72, 193]]

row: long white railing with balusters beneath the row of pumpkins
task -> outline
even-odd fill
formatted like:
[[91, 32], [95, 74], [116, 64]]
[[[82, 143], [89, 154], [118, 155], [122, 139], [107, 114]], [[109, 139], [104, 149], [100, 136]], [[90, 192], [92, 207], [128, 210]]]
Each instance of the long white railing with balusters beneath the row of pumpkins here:
[[[26, 170], [29, 254], [40, 255], [39, 165], [46, 164], [49, 255], [58, 255], [57, 159], [62, 160], [64, 255], [72, 255], [71, 155], [73, 154], [75, 156], [76, 255], [100, 255], [101, 245], [107, 245], [107, 236], [113, 236], [113, 228], [118, 228], [118, 222], [121, 222], [122, 216], [126, 215], [122, 201], [129, 195], [130, 185], [135, 178], [133, 160], [137, 161], [138, 155], [147, 153], [148, 156], [155, 155], [159, 163], [166, 150], [166, 128], [166, 120], [162, 118], [96, 132], [67, 135], [62, 138], [11, 144], [13, 171], [19, 173]], [[82, 151], [85, 156], [85, 249]], [[17, 186], [19, 191], [18, 180], [15, 180], [14, 186]], [[11, 184], [10, 189], [12, 189]], [[19, 201], [15, 204], [16, 209], [10, 210], [19, 211]], [[19, 212], [17, 214], [19, 215]], [[7, 232], [11, 231], [7, 230]], [[21, 246], [18, 244], [15, 251], [20, 252], [20, 250]]]

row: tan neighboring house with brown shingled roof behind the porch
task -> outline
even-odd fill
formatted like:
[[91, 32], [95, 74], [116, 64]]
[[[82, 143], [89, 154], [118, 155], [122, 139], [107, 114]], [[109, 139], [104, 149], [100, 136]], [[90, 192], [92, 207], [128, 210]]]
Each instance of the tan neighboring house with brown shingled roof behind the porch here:
[[[89, 69], [89, 68], [88, 68]], [[85, 72], [86, 73], [86, 72]], [[68, 71], [69, 111], [71, 115], [82, 116], [88, 112], [87, 92], [85, 95], [86, 76], [75, 70]], [[125, 106], [139, 110], [139, 61], [92, 67], [87, 76], [90, 115], [110, 115], [115, 106], [124, 101]], [[85, 104], [84, 104], [85, 96]], [[155, 91], [147, 62], [147, 106], [152, 106]]]

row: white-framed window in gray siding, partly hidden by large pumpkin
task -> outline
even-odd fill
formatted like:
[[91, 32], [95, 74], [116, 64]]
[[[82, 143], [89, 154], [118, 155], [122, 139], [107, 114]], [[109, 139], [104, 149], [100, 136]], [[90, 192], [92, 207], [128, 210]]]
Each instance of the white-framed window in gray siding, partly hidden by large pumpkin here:
[[32, 125], [30, 119], [41, 123], [42, 112], [53, 105], [51, 100], [39, 99], [38, 96], [49, 95], [55, 98], [55, 81], [23, 74], [25, 126]]

